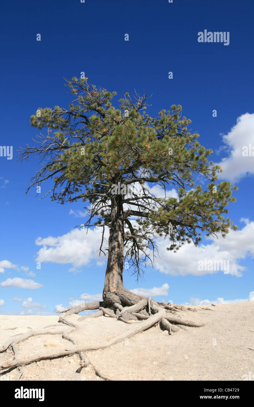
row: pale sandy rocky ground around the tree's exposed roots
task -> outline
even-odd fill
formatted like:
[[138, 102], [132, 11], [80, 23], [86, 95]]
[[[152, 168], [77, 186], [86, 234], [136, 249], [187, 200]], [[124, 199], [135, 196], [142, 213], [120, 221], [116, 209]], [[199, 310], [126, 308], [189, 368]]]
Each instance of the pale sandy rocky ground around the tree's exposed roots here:
[[[180, 311], [183, 319], [203, 322], [201, 328], [186, 327], [168, 335], [159, 326], [126, 339], [125, 342], [103, 350], [87, 352], [91, 362], [103, 373], [117, 380], [243, 380], [243, 375], [254, 375], [254, 302], [220, 304], [209, 306], [212, 311], [195, 306], [198, 312]], [[82, 314], [80, 314], [82, 315]], [[80, 315], [69, 317], [77, 322]], [[0, 347], [10, 336], [27, 332], [30, 328], [42, 329], [56, 324], [56, 316], [0, 315]], [[110, 317], [98, 317], [77, 322], [84, 328], [83, 335], [71, 333], [79, 345], [100, 344], [130, 328], [130, 324]], [[58, 324], [59, 328], [69, 326]], [[15, 330], [7, 328], [18, 327]], [[29, 328], [30, 327], [30, 328]], [[52, 352], [70, 348], [72, 344], [60, 335], [31, 337], [18, 344], [18, 354], [22, 359], [33, 354]], [[8, 350], [0, 353], [1, 362], [12, 360]], [[34, 380], [98, 380], [91, 367], [80, 367], [80, 357], [75, 354], [53, 360], [44, 360], [24, 368], [20, 381]], [[0, 381], [13, 380], [18, 374], [14, 369]], [[254, 376], [253, 376], [254, 377]]]

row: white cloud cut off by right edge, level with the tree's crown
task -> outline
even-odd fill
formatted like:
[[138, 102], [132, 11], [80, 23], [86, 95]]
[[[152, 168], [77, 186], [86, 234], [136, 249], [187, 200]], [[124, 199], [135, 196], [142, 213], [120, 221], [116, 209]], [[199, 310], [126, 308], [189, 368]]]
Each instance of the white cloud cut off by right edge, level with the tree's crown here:
[[218, 163], [223, 169], [219, 178], [237, 181], [241, 177], [254, 174], [254, 157], [243, 156], [244, 146], [254, 146], [254, 113], [245, 113], [238, 117], [236, 125], [223, 135], [223, 142], [229, 148], [230, 155]]

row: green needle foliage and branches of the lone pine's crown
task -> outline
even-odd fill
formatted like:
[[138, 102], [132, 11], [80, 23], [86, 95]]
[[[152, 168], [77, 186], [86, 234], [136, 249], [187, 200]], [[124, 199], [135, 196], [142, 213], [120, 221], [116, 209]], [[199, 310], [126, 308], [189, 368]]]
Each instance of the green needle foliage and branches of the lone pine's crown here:
[[[137, 237], [125, 240], [137, 274], [139, 262], [147, 260], [146, 248], [155, 248], [156, 236], [168, 237], [168, 249], [177, 250], [191, 241], [198, 245], [202, 232], [225, 237], [230, 228], [236, 230], [223, 214], [228, 213], [228, 203], [235, 201], [232, 191], [237, 188], [227, 181], [216, 183], [221, 168], [209, 161], [212, 150], [199, 144], [199, 134], [188, 130], [191, 120], [181, 116], [181, 105], [163, 109], [152, 118], [146, 113], [150, 105], [145, 94], [135, 94], [133, 101], [126, 93], [117, 109], [111, 104], [116, 92], [97, 89], [87, 79], [67, 81], [76, 97], [68, 109], [39, 108], [40, 116], [31, 116], [31, 125], [40, 130], [39, 143], [23, 149], [21, 159], [35, 154], [46, 164], [29, 188], [52, 178], [53, 200], [89, 202], [88, 227], [110, 226], [112, 184], [147, 182], [165, 191], [176, 188], [178, 199], [157, 198], [149, 188], [143, 196], [122, 196], [123, 204], [132, 205], [125, 211], [124, 222], [128, 233]], [[46, 129], [44, 136], [42, 129]], [[208, 181], [206, 190], [196, 184], [202, 178]], [[129, 222], [133, 216], [137, 216], [138, 229]]]

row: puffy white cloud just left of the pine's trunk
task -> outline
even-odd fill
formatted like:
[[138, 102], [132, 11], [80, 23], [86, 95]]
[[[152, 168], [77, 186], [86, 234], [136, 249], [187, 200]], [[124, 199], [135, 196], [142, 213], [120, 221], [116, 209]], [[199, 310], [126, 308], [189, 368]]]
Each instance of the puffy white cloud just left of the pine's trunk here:
[[[108, 239], [108, 228], [105, 229], [104, 237]], [[39, 250], [36, 261], [71, 263], [74, 267], [88, 265], [92, 260], [100, 258], [98, 249], [101, 239], [102, 228], [99, 227], [88, 230], [87, 234], [86, 230], [74, 229], [57, 238], [39, 238], [35, 243], [43, 247]]]

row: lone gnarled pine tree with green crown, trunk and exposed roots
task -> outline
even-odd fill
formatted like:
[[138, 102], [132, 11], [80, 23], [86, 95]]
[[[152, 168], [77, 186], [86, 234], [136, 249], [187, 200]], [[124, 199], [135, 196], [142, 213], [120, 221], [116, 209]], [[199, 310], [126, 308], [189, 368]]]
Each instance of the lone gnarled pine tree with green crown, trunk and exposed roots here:
[[[67, 309], [60, 322], [77, 328], [66, 315], [99, 309], [95, 316], [139, 324], [109, 345], [157, 322], [169, 333], [179, 324], [201, 326], [172, 316], [182, 306], [158, 303], [125, 289], [124, 262], [129, 262], [139, 279], [157, 254], [158, 237], [168, 239], [168, 250], [177, 251], [185, 243], [197, 246], [203, 234], [225, 237], [230, 228], [236, 230], [223, 217], [227, 204], [235, 201], [232, 191], [236, 187], [216, 182], [222, 170], [208, 161], [212, 150], [199, 144], [199, 134], [188, 130], [191, 120], [181, 117], [181, 105], [163, 109], [152, 118], [146, 113], [150, 106], [146, 94], [141, 97], [135, 92], [131, 99], [126, 93], [117, 109], [111, 103], [116, 92], [96, 88], [88, 78], [73, 77], [66, 86], [75, 95], [69, 109], [39, 108], [31, 116], [31, 125], [40, 130], [40, 136], [37, 145], [20, 150], [20, 159], [36, 155], [44, 164], [27, 192], [53, 179], [47, 194], [61, 204], [83, 201], [88, 214], [84, 227], [102, 228], [100, 252], [105, 227], [109, 240], [103, 301]], [[44, 136], [42, 129], [47, 129]], [[206, 190], [197, 184], [202, 178], [208, 181]], [[155, 185], [164, 189], [165, 197], [152, 194]], [[178, 199], [166, 196], [170, 188], [177, 189]], [[80, 349], [72, 352], [76, 351]]]

